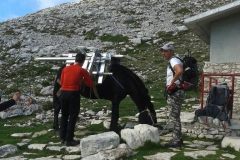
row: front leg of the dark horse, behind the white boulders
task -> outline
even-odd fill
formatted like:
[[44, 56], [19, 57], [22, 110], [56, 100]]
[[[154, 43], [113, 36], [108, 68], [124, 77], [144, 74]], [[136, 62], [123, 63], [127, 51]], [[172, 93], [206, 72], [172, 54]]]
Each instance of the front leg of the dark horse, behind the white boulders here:
[[119, 104], [126, 97], [126, 94], [118, 94], [112, 99], [112, 116], [110, 131], [114, 131], [118, 134], [118, 118], [119, 118]]

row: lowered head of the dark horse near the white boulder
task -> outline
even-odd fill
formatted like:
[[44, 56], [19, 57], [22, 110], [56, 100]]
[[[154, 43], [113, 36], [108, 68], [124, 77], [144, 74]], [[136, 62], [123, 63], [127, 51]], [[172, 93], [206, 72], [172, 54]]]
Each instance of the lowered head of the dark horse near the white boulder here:
[[140, 124], [149, 124], [149, 125], [156, 125], [157, 123], [157, 116], [155, 111], [150, 111], [148, 108], [144, 111], [140, 112], [138, 116], [138, 122]]

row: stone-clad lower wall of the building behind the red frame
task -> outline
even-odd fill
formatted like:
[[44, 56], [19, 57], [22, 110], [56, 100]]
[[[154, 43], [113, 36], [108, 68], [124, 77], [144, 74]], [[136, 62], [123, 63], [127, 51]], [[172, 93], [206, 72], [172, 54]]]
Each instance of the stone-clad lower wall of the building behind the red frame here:
[[[234, 80], [234, 95], [233, 95], [233, 112], [240, 111], [240, 62], [239, 63], [211, 63], [204, 62], [203, 73], [216, 73], [216, 74], [236, 74], [232, 76], [212, 76], [204, 78], [204, 90], [209, 89], [209, 82], [212, 79], [212, 85], [215, 82], [227, 83], [229, 88], [232, 89], [232, 80]], [[204, 104], [206, 102], [207, 94], [204, 94]], [[204, 105], [203, 105], [204, 106]]]

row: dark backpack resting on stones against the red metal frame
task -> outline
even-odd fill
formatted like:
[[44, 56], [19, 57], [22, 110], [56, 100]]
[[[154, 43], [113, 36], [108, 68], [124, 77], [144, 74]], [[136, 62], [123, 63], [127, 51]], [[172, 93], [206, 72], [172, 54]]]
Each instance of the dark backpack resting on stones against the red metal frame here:
[[220, 121], [226, 121], [231, 126], [229, 112], [232, 110], [232, 104], [232, 90], [226, 83], [212, 86], [208, 92], [205, 107], [195, 111], [195, 118], [199, 116], [213, 117]]

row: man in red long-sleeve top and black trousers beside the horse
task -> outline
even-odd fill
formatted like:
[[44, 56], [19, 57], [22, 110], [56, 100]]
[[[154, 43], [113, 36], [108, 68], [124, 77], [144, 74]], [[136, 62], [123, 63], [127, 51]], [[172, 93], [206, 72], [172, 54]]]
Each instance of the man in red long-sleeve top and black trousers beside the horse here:
[[75, 64], [67, 66], [61, 74], [61, 94], [60, 104], [62, 109], [62, 117], [60, 123], [60, 138], [61, 143], [66, 146], [76, 146], [80, 141], [73, 139], [74, 128], [80, 110], [80, 94], [79, 87], [81, 81], [85, 80], [88, 87], [92, 87], [93, 82], [86, 69], [82, 68], [85, 61], [84, 54], [77, 54]]

